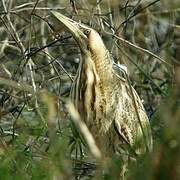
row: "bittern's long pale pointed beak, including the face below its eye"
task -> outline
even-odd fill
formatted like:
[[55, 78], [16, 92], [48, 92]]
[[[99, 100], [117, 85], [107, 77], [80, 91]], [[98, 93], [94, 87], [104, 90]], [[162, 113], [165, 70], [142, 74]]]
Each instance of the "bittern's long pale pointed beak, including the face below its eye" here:
[[72, 19], [56, 12], [52, 11], [52, 14], [60, 21], [65, 28], [72, 34], [73, 38], [78, 43], [81, 51], [84, 51], [87, 48], [87, 36], [83, 33], [83, 25], [73, 21]]

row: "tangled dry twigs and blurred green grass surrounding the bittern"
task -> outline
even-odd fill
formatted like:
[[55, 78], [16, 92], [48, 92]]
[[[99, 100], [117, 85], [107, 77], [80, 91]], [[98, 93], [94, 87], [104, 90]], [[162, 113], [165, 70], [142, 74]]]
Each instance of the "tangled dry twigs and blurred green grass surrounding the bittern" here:
[[1, 0], [0, 179], [119, 179], [120, 157], [97, 162], [71, 128], [67, 102], [80, 52], [51, 10], [96, 29], [144, 102], [154, 150], [129, 165], [127, 179], [180, 179], [179, 7], [178, 0]]

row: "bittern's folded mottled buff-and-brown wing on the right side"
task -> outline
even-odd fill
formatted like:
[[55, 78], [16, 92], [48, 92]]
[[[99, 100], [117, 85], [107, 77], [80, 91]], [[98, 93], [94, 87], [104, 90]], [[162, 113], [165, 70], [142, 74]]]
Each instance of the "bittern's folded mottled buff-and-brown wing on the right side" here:
[[[128, 82], [127, 71], [115, 63], [113, 70], [116, 80], [120, 82], [123, 89], [120, 90], [122, 94], [118, 97], [121, 99], [119, 105], [121, 108], [117, 110], [115, 130], [130, 149], [134, 149], [136, 154], [152, 151], [151, 128], [143, 104], [135, 89]], [[126, 103], [123, 103], [123, 100]]]

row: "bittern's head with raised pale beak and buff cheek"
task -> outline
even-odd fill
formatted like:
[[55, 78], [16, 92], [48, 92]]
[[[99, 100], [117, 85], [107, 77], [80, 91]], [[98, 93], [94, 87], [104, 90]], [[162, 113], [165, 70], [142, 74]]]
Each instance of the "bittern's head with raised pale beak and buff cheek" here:
[[53, 11], [52, 14], [60, 21], [65, 28], [72, 34], [73, 38], [79, 45], [82, 53], [86, 54], [104, 54], [106, 51], [105, 45], [100, 35], [92, 28], [73, 21], [72, 19]]

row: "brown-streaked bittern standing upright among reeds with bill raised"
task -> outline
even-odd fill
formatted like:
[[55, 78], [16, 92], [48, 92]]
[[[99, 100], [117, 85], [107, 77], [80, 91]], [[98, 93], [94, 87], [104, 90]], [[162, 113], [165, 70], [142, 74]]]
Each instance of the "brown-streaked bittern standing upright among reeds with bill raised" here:
[[107, 156], [151, 151], [151, 129], [143, 104], [126, 75], [120, 77], [100, 35], [60, 13], [53, 14], [80, 48], [71, 96], [99, 149]]

